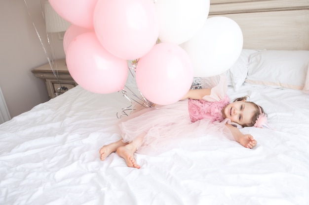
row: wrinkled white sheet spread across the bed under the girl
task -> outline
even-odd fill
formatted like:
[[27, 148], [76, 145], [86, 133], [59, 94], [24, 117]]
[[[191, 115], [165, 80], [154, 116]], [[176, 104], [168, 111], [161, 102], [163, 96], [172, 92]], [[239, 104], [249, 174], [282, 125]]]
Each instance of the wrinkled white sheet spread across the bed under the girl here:
[[222, 136], [175, 141], [128, 168], [99, 149], [119, 139], [119, 93], [79, 86], [0, 125], [1, 205], [308, 205], [309, 95], [245, 84], [274, 130], [243, 128], [257, 147]]

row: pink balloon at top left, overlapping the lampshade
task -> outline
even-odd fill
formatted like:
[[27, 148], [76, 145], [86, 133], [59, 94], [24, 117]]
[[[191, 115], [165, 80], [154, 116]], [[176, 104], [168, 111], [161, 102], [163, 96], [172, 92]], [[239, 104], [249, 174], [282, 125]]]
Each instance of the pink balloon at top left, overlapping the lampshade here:
[[93, 28], [93, 13], [98, 0], [49, 0], [53, 9], [71, 24]]

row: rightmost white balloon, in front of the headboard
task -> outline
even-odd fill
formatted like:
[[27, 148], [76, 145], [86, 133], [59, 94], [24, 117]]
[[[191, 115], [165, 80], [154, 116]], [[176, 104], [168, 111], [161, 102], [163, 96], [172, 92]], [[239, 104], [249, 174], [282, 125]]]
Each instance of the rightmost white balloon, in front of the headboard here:
[[210, 77], [227, 71], [239, 58], [243, 35], [228, 17], [211, 17], [189, 41], [180, 45], [193, 61], [194, 77]]

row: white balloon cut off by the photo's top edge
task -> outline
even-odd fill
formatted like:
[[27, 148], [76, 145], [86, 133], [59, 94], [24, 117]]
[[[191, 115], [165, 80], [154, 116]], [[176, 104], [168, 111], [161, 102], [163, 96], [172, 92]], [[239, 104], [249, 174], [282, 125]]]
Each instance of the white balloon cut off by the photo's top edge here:
[[157, 0], [161, 42], [181, 44], [191, 39], [205, 24], [209, 0]]

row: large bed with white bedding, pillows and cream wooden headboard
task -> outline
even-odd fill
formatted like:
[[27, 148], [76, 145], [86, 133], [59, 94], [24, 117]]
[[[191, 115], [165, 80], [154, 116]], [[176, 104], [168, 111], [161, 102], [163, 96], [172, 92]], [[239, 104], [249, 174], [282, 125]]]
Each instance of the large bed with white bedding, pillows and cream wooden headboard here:
[[308, 205], [309, 1], [291, 2], [211, 1], [209, 16], [244, 34], [225, 74], [231, 99], [249, 95], [268, 114], [271, 129], [240, 129], [256, 147], [208, 133], [136, 153], [141, 169], [116, 153], [102, 162], [129, 102], [77, 86], [0, 125], [0, 204]]

